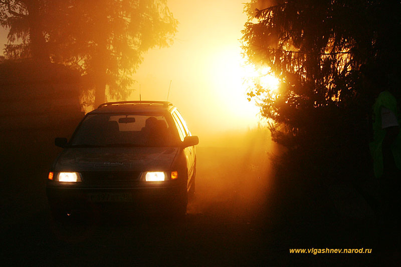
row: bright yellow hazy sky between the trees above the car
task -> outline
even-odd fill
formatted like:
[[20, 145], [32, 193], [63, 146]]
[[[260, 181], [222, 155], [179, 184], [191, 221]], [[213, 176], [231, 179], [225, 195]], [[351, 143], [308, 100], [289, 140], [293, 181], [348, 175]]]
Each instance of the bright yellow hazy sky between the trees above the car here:
[[[257, 124], [258, 108], [245, 96], [241, 67], [241, 30], [246, 22], [244, 0], [169, 0], [168, 7], [179, 21], [170, 48], [145, 55], [134, 75], [131, 98], [168, 100], [178, 107], [192, 134], [212, 135]], [[7, 42], [1, 29], [0, 44]], [[2, 51], [3, 53], [3, 51]]]

